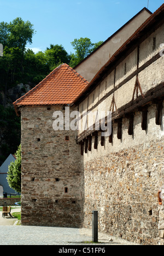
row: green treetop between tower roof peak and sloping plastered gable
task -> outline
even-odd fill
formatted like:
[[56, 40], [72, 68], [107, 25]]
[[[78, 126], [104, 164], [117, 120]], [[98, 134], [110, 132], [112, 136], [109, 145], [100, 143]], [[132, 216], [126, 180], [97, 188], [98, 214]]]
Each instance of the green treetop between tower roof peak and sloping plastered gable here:
[[99, 41], [98, 43], [91, 43], [91, 40], [87, 37], [80, 39], [75, 38], [73, 42], [71, 42], [75, 54], [71, 54], [71, 61], [69, 65], [71, 67], [74, 67], [78, 65], [78, 63], [82, 60], [84, 60], [89, 54], [92, 53], [93, 50], [95, 50], [99, 45], [101, 45], [103, 42]]

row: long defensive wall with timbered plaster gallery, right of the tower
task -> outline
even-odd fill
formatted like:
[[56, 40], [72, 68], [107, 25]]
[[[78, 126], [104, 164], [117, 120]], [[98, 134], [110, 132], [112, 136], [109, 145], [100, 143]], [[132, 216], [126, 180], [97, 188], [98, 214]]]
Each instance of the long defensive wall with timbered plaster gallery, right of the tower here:
[[[164, 185], [163, 21], [133, 40], [97, 74], [78, 104], [77, 143], [84, 162], [84, 226], [98, 211], [99, 230], [143, 245], [163, 245]], [[112, 133], [102, 136], [83, 112], [112, 112]], [[96, 118], [96, 117], [95, 117]], [[107, 117], [106, 117], [107, 122]], [[81, 124], [82, 126], [82, 124]]]

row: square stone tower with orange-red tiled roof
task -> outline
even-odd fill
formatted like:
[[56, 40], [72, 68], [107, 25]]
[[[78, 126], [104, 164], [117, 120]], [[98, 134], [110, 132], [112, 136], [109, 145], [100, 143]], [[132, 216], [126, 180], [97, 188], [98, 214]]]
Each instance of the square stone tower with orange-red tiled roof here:
[[[23, 225], [77, 227], [82, 223], [80, 147], [76, 131], [53, 129], [54, 112], [63, 113], [87, 85], [63, 64], [16, 102], [21, 112]], [[65, 125], [64, 125], [65, 126]]]

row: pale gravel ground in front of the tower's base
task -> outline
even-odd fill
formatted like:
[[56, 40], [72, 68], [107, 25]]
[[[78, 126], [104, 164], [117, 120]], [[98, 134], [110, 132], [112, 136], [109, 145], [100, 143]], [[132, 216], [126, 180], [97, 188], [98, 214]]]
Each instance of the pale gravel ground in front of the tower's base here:
[[[19, 208], [12, 210], [12, 212], [19, 211]], [[0, 212], [0, 245], [136, 245], [101, 232], [98, 233], [98, 244], [90, 241], [92, 241], [91, 229], [18, 226], [16, 219], [2, 218]]]

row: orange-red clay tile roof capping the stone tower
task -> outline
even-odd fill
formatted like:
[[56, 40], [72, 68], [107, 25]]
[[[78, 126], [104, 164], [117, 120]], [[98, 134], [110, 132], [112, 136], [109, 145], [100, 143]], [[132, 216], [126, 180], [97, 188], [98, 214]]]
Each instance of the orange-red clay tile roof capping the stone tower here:
[[64, 63], [13, 104], [15, 108], [28, 105], [71, 104], [87, 84], [87, 80]]

